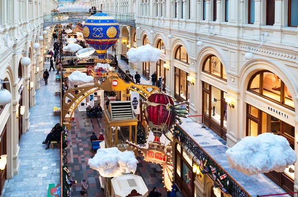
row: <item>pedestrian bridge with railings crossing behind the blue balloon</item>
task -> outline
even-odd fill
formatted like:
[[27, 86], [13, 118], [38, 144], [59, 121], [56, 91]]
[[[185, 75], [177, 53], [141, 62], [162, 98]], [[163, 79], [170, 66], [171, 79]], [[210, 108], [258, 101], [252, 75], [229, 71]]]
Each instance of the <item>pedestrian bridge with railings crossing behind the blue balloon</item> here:
[[[102, 11], [113, 16], [119, 24], [129, 25], [135, 27], [135, 14], [134, 13], [119, 13], [112, 11]], [[63, 23], [74, 23], [74, 22], [83, 22], [87, 20], [90, 16], [89, 11], [82, 12], [80, 11], [70, 11], [70, 12], [50, 12], [45, 13], [43, 20], [43, 27], [49, 27], [53, 25], [63, 24]]]

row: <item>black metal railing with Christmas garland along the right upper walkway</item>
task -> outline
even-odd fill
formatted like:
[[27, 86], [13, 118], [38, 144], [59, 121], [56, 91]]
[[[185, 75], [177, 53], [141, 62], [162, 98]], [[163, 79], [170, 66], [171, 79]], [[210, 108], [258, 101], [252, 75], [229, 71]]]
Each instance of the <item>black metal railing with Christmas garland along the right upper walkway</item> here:
[[[235, 179], [231, 175], [229, 175], [224, 168], [216, 162], [194, 139], [185, 132], [182, 127], [176, 125], [178, 130], [182, 131], [182, 135], [180, 136], [180, 142], [183, 144], [183, 147], [187, 147], [194, 154], [193, 160], [208, 160], [212, 161], [213, 167], [220, 169], [223, 174], [226, 174], [227, 179], [230, 180], [230, 185], [232, 188], [229, 190], [229, 194], [232, 197], [251, 197], [246, 190], [244, 190]], [[186, 150], [187, 151], [187, 150]], [[188, 151], [187, 151], [188, 152]], [[207, 173], [208, 176], [210, 176]], [[210, 177], [213, 180], [213, 177]]]

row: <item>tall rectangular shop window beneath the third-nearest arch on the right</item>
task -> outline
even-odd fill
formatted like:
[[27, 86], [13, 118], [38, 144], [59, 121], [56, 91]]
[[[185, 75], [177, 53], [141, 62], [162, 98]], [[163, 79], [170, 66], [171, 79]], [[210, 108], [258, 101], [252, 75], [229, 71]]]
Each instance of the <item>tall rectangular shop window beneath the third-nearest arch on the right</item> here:
[[177, 102], [189, 101], [189, 84], [186, 79], [189, 74], [175, 67], [175, 99]]

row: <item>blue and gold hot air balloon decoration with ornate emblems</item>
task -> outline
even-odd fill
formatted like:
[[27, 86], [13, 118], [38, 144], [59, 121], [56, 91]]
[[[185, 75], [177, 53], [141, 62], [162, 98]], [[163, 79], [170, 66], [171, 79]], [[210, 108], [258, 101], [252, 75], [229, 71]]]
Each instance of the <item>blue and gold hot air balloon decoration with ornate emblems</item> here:
[[115, 18], [103, 12], [90, 16], [83, 25], [83, 37], [95, 49], [99, 59], [104, 59], [107, 49], [118, 41], [119, 34]]

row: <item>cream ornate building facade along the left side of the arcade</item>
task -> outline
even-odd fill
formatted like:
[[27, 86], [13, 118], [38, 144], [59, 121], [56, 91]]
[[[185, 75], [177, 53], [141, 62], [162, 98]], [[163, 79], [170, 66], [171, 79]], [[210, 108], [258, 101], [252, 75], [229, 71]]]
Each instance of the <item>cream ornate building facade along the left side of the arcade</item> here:
[[[29, 130], [29, 108], [35, 105], [35, 94], [44, 70], [48, 36], [43, 34], [43, 16], [57, 6], [56, 0], [1, 0], [0, 2], [0, 78], [11, 93], [11, 101], [0, 105], [0, 155], [7, 154], [7, 164], [1, 173], [0, 190], [5, 179], [18, 173], [19, 141]], [[38, 39], [44, 37], [43, 41]], [[39, 43], [34, 49], [33, 44]], [[21, 58], [31, 59], [28, 66]], [[33, 82], [33, 83], [32, 83]], [[21, 115], [21, 106], [24, 114]]]

